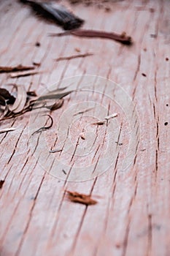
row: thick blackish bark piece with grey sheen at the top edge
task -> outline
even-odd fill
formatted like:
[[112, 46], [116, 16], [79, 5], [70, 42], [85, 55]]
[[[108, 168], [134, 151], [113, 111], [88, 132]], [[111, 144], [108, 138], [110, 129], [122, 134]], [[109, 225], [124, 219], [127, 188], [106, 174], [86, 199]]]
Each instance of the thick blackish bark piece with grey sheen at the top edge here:
[[58, 4], [54, 5], [52, 2], [38, 2], [31, 0], [20, 0], [20, 2], [29, 4], [37, 15], [41, 15], [46, 20], [55, 22], [64, 30], [80, 28], [84, 23], [84, 20], [66, 10], [66, 7]]

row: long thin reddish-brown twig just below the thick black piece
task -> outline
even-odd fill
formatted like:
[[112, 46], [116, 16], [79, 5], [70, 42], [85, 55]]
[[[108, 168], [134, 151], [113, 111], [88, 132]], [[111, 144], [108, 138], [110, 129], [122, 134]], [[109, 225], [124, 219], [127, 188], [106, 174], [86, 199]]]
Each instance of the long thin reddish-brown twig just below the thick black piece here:
[[131, 37], [126, 36], [125, 32], [123, 32], [122, 34], [116, 34], [116, 33], [106, 32], [106, 31], [76, 29], [72, 31], [66, 31], [63, 33], [53, 33], [53, 34], [50, 34], [50, 37], [62, 37], [69, 34], [72, 34], [73, 36], [76, 36], [76, 37], [98, 37], [98, 38], [112, 39], [122, 43], [123, 45], [132, 45]]

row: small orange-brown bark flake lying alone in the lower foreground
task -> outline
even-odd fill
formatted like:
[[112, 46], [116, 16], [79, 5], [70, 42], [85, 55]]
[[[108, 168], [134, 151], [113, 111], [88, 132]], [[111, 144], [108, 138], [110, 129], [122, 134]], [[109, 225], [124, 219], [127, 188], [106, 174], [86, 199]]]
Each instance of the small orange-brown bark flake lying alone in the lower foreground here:
[[78, 192], [71, 192], [69, 190], [66, 190], [66, 192], [68, 194], [69, 200], [71, 200], [74, 203], [82, 203], [85, 206], [91, 206], [98, 203], [96, 200], [93, 200], [91, 198], [91, 195], [80, 194]]

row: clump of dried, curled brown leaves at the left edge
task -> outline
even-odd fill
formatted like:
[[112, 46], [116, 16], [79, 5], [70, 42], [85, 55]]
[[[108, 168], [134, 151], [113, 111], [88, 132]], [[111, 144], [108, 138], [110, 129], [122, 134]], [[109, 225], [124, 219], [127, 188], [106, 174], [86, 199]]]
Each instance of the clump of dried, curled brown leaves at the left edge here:
[[7, 89], [0, 89], [0, 109], [2, 112], [0, 121], [21, 116], [37, 108], [47, 108], [51, 111], [57, 110], [63, 105], [63, 97], [72, 93], [72, 91], [66, 91], [65, 87], [38, 97], [35, 91], [26, 91], [24, 86], [16, 84], [13, 84], [13, 86], [17, 91], [16, 98]]

